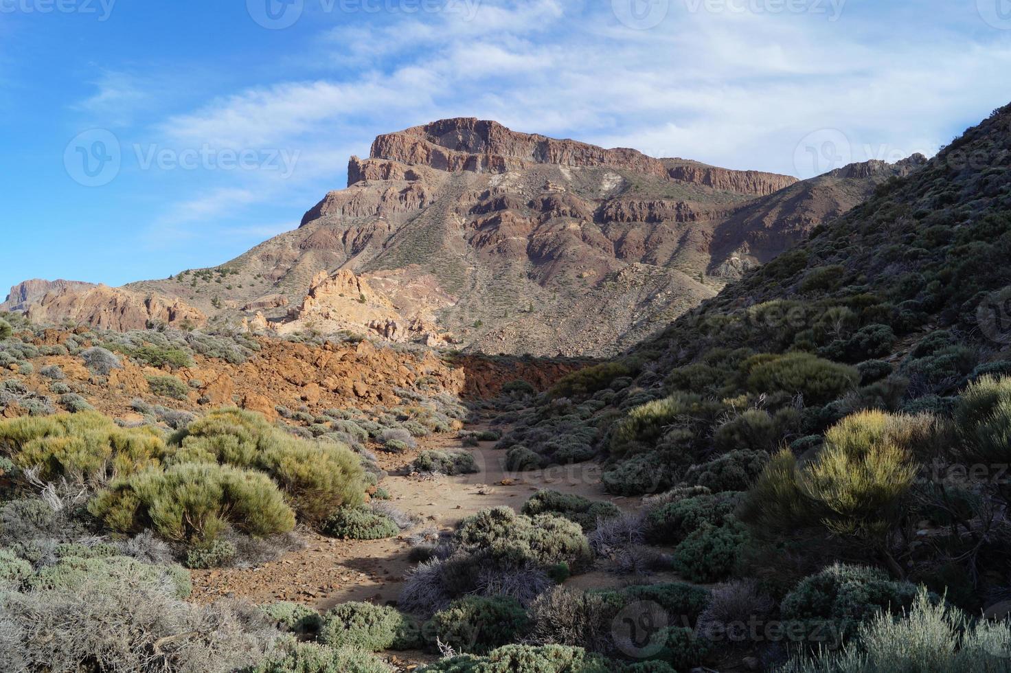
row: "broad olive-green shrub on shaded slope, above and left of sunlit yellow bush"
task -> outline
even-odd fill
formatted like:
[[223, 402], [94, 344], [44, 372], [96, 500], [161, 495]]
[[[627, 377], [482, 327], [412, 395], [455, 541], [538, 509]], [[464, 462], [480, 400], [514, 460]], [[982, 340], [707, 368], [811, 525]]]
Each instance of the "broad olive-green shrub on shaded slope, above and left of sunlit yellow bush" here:
[[766, 357], [748, 371], [748, 388], [755, 393], [802, 393], [809, 405], [827, 404], [859, 383], [852, 367], [807, 353]]

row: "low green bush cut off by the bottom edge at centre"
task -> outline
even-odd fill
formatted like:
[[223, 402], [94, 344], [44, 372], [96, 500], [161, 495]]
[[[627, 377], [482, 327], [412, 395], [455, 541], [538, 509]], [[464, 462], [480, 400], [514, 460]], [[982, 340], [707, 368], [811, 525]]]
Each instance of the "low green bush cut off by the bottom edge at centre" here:
[[615, 662], [581, 648], [507, 645], [486, 657], [461, 655], [424, 666], [418, 673], [616, 673]]

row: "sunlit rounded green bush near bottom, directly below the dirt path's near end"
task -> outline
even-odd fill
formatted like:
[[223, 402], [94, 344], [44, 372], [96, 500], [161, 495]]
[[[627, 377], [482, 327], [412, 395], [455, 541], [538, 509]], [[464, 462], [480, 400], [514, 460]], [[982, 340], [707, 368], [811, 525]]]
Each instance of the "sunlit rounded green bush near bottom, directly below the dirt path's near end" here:
[[367, 652], [412, 650], [421, 646], [420, 632], [395, 607], [350, 602], [324, 616], [319, 642]]

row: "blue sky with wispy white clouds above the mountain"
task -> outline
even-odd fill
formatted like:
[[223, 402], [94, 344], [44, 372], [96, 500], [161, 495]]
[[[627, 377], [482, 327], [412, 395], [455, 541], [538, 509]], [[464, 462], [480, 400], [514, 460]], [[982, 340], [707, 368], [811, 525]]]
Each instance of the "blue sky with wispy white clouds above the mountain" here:
[[0, 0], [0, 296], [224, 262], [437, 118], [808, 177], [1009, 72], [1011, 0]]

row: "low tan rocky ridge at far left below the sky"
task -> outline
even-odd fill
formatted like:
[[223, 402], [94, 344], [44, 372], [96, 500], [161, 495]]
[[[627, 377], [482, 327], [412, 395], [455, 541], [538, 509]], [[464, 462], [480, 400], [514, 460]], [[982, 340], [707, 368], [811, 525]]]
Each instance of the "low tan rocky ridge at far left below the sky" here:
[[178, 299], [142, 295], [104, 285], [67, 286], [29, 303], [25, 315], [38, 324], [70, 321], [99, 329], [145, 329], [155, 324], [200, 327], [207, 316]]

